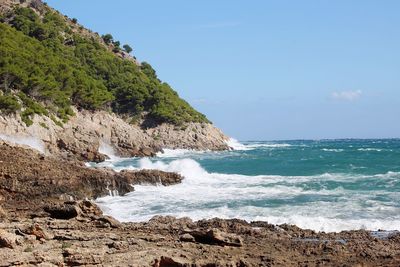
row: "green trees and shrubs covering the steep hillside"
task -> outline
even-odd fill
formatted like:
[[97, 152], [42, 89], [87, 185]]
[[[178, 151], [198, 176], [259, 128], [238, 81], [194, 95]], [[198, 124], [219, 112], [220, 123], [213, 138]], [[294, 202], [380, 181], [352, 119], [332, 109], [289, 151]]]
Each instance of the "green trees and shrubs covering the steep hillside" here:
[[[71, 106], [111, 110], [156, 123], [208, 122], [148, 63], [118, 57], [120, 43], [110, 34], [82, 34], [70, 21], [45, 7], [41, 14], [16, 7], [0, 18], [0, 110], [31, 115], [73, 115]], [[127, 53], [132, 51], [124, 45]], [[21, 110], [21, 111], [20, 111]]]

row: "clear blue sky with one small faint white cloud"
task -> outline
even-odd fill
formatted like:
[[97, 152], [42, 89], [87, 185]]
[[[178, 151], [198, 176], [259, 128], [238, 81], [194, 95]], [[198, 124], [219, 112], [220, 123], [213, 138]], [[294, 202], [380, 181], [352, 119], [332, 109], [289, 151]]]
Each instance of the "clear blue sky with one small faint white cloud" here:
[[47, 0], [239, 140], [400, 137], [400, 1]]

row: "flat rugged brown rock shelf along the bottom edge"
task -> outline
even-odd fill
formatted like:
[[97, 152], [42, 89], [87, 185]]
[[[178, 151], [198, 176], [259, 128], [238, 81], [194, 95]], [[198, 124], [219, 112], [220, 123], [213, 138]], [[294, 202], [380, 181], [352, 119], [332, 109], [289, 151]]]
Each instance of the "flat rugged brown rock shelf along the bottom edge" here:
[[193, 222], [160, 216], [150, 222], [119, 223], [90, 201], [64, 204], [80, 210], [79, 215], [57, 219], [44, 213], [0, 223], [0, 265], [398, 266], [400, 262], [396, 234], [378, 239], [366, 231], [328, 234], [261, 222]]

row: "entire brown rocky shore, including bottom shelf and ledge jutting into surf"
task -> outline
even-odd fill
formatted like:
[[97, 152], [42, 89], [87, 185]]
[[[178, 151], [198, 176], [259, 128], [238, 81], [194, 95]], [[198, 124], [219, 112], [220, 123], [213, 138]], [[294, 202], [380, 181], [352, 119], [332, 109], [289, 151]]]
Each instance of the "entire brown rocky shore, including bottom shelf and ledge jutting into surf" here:
[[316, 233], [242, 220], [120, 223], [92, 201], [159, 171], [90, 169], [0, 144], [0, 266], [399, 266], [400, 234]]

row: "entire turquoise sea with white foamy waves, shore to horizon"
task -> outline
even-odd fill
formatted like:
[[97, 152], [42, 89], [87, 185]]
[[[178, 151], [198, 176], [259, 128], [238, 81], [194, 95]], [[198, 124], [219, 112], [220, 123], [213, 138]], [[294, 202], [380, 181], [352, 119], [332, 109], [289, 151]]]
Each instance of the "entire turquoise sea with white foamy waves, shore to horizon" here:
[[400, 230], [400, 139], [235, 142], [224, 152], [165, 150], [99, 164], [182, 174], [98, 199], [122, 221], [154, 215], [292, 223], [317, 231]]

